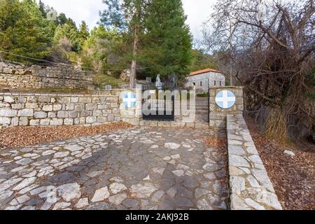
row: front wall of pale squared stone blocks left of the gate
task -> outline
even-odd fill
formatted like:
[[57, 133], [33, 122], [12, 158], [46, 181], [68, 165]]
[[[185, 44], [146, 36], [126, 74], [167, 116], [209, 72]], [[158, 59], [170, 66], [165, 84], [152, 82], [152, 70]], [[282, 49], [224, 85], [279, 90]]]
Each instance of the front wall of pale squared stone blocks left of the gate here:
[[90, 126], [120, 121], [119, 94], [0, 93], [0, 126]]

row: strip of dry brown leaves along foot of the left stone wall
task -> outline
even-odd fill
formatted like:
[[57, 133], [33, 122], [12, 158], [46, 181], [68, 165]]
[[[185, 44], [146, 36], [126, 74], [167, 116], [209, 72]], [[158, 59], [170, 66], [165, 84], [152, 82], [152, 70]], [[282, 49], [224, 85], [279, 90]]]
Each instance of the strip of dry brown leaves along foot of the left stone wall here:
[[111, 123], [93, 127], [9, 127], [0, 130], [0, 148], [34, 146], [50, 141], [103, 134], [132, 127], [127, 123]]

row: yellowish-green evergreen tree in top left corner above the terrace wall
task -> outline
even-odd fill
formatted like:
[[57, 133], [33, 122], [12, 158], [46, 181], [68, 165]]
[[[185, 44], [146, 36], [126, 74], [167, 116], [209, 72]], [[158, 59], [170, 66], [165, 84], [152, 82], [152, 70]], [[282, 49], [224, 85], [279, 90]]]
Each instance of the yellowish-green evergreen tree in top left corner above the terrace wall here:
[[[45, 20], [36, 2], [1, 0], [0, 49], [27, 57], [45, 58], [50, 53], [51, 22]], [[7, 59], [25, 61], [14, 55]]]

